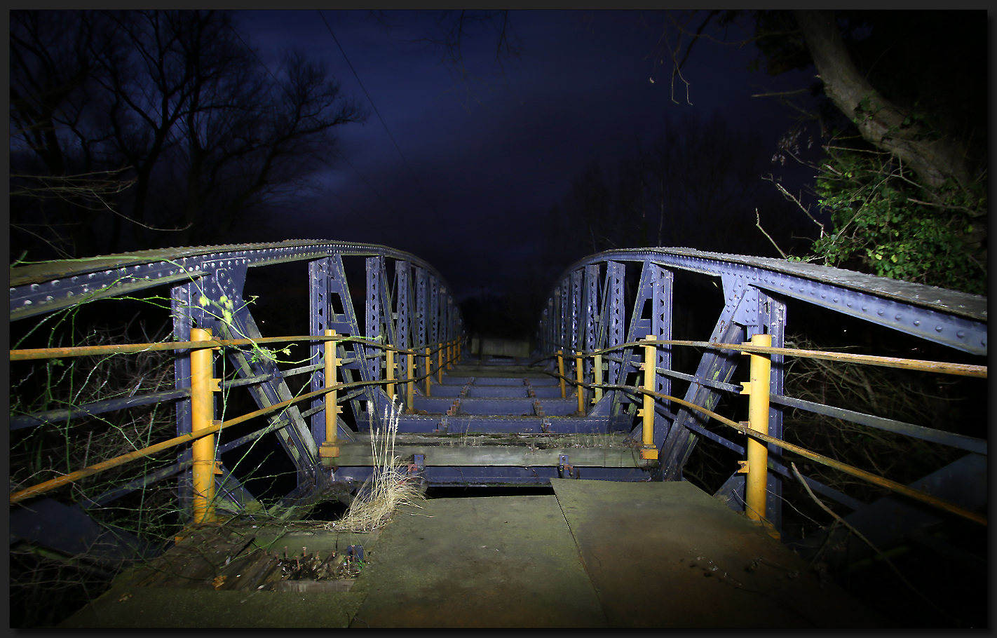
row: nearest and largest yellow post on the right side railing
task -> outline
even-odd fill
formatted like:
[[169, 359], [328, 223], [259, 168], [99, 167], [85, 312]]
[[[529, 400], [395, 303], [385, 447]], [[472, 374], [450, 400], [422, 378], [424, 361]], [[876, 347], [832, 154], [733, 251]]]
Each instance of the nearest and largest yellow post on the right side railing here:
[[[749, 344], [745, 344], [749, 345]], [[752, 346], [772, 346], [772, 335], [755, 335]], [[748, 354], [748, 353], [745, 353]], [[751, 357], [751, 381], [743, 382], [741, 394], [748, 397], [748, 419], [751, 429], [769, 434], [769, 381], [772, 362], [765, 355]], [[745, 486], [745, 515], [749, 520], [765, 519], [766, 488], [769, 481], [769, 450], [765, 444], [748, 438], [748, 480]], [[774, 530], [770, 530], [773, 533]]]

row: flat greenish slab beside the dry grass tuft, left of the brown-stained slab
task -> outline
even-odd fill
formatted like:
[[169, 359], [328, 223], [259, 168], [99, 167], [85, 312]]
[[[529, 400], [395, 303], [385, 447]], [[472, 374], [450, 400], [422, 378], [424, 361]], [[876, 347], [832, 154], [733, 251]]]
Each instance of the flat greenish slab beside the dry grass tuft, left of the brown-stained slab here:
[[382, 531], [352, 590], [367, 599], [351, 627], [606, 626], [554, 496], [423, 507]]

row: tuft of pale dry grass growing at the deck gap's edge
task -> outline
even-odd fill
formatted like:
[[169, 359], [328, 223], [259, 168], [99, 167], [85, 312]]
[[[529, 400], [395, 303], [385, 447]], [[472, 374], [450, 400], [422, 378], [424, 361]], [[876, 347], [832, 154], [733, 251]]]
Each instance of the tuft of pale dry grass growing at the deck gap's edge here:
[[419, 485], [408, 476], [401, 460], [395, 456], [395, 437], [401, 414], [402, 406], [397, 400], [391, 405], [390, 415], [388, 409], [385, 409], [387, 430], [375, 429], [371, 432], [371, 455], [374, 461], [371, 478], [360, 488], [346, 514], [339, 520], [322, 525], [323, 528], [336, 531], [373, 531], [388, 522], [391, 514], [401, 505], [419, 507], [416, 501], [424, 497], [419, 491]]

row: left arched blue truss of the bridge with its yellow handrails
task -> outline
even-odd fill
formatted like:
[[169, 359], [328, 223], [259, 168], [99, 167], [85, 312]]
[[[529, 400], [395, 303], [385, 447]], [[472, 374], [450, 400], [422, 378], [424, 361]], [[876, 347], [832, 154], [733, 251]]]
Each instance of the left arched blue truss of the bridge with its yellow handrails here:
[[[360, 286], [351, 287], [347, 281], [347, 266], [350, 263], [344, 266], [344, 257], [364, 258], [361, 267], [365, 269], [366, 276], [365, 282], [359, 282]], [[304, 262], [303, 265], [307, 266], [309, 335], [263, 337], [250, 312], [251, 299], [247, 301], [243, 295], [248, 269], [292, 262]], [[349, 279], [352, 282], [354, 276], [351, 274]], [[358, 294], [356, 288], [363, 289], [364, 283], [364, 292]], [[12, 268], [10, 316], [12, 321], [16, 321], [43, 315], [55, 316], [56, 312], [72, 313], [83, 304], [126, 295], [136, 298], [136, 293], [164, 285], [169, 290], [167, 310], [173, 323], [169, 342], [116, 345], [108, 349], [80, 347], [17, 351], [11, 353], [11, 361], [51, 357], [63, 359], [109, 352], [127, 354], [223, 348], [236, 374], [235, 378], [214, 385], [213, 391], [246, 387], [260, 408], [239, 417], [238, 421], [226, 420], [223, 427], [244, 423], [256, 416], [266, 416], [269, 423], [235, 441], [215, 445], [214, 454], [220, 458], [224, 452], [256, 441], [267, 433], [280, 431], [277, 443], [294, 464], [298, 482], [297, 488], [281, 499], [281, 506], [286, 504], [292, 507], [295, 502], [310, 502], [309, 499], [320, 495], [327, 483], [334, 480], [326, 476], [328, 473], [320, 472], [324, 467], [321, 444], [325, 442], [323, 435], [328, 430], [328, 416], [322, 414], [327, 393], [341, 391], [336, 395], [333, 407], [338, 409], [339, 404], [349, 402], [360, 430], [373, 427], [381, 419], [381, 408], [390, 402], [387, 394], [380, 390], [375, 392], [374, 389], [386, 386], [394, 389], [399, 383], [391, 383], [388, 373], [382, 368], [390, 370], [396, 379], [413, 377], [408, 367], [414, 365], [417, 359], [426, 360], [427, 355], [431, 355], [435, 360], [425, 366], [427, 374], [416, 378], [431, 384], [429, 371], [439, 381], [444, 356], [452, 365], [459, 347], [464, 343], [460, 308], [453, 294], [448, 292], [449, 284], [430, 264], [415, 255], [385, 246], [336, 241], [294, 240], [167, 248]], [[354, 298], [363, 299], [356, 309]], [[158, 305], [162, 307], [163, 304]], [[47, 317], [41, 322], [46, 320]], [[25, 332], [31, 334], [36, 328], [29, 327]], [[192, 333], [197, 329], [210, 330], [212, 338], [193, 338]], [[333, 359], [342, 383], [332, 385], [324, 379], [326, 353], [323, 352], [323, 342], [327, 341], [325, 334], [329, 331], [337, 335], [334, 340], [338, 344], [337, 349], [341, 350]], [[267, 356], [265, 347], [294, 341], [310, 342], [310, 361], [308, 365], [281, 370], [273, 353]], [[392, 352], [392, 355], [385, 355], [385, 352]], [[207, 418], [206, 426], [203, 423], [193, 426], [193, 395], [202, 392], [195, 393], [191, 384], [190, 357], [173, 357], [172, 362], [175, 384], [172, 390], [109, 398], [86, 405], [70, 404], [57, 410], [34, 411], [33, 414], [12, 414], [11, 429], [59, 424], [142, 405], [175, 404], [175, 437], [159, 444], [161, 447], [153, 452], [135, 450], [124, 456], [128, 458], [108, 460], [105, 463], [111, 465], [107, 467], [116, 467], [143, 454], [155, 454], [157, 450], [173, 448], [218, 432], [220, 428], [210, 418]], [[309, 375], [312, 392], [292, 397], [285, 382], [302, 374]], [[407, 385], [412, 388], [415, 383]], [[312, 405], [300, 405], [309, 400]], [[199, 418], [199, 421], [203, 419]], [[310, 422], [306, 421], [308, 419]], [[347, 426], [340, 424], [340, 427]], [[198, 431], [200, 434], [194, 436]], [[324, 448], [327, 453], [329, 448]], [[203, 465], [201, 460], [197, 463]], [[188, 476], [192, 477], [193, 464], [189, 451], [180, 453], [175, 464], [105, 493], [88, 494], [80, 504], [84, 508], [103, 505], [131, 490], [177, 473], [191, 473]], [[61, 471], [75, 475], [72, 468]], [[81, 472], [92, 474], [92, 469], [88, 466]], [[59, 479], [65, 481], [65, 478]], [[232, 494], [237, 496], [233, 497], [235, 505], [244, 507], [245, 502], [254, 499], [231, 473], [224, 473], [219, 484], [221, 482], [234, 485]], [[178, 487], [181, 518], [189, 519], [192, 487], [189, 480], [181, 480]], [[197, 490], [201, 491], [201, 487]], [[23, 497], [27, 496], [18, 496]]]

